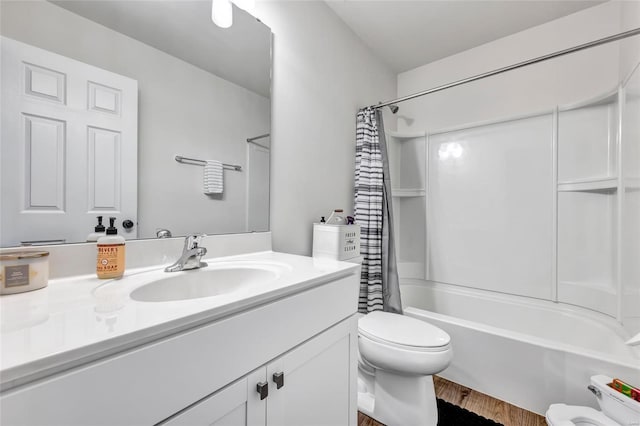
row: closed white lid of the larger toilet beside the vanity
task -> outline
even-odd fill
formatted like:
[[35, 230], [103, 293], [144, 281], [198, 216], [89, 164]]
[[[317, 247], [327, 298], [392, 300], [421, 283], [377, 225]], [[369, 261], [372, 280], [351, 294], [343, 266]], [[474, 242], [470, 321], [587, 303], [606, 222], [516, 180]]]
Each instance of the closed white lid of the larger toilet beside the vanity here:
[[446, 346], [451, 338], [436, 326], [400, 314], [374, 311], [358, 320], [358, 332], [373, 340], [419, 348]]

